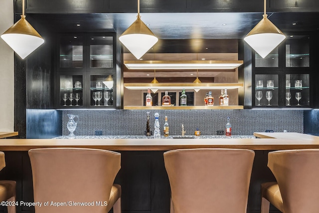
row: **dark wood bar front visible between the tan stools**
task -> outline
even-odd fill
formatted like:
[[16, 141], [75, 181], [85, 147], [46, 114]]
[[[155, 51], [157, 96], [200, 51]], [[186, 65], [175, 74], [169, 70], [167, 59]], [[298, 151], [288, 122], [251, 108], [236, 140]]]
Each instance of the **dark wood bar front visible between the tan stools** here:
[[[255, 151], [247, 213], [260, 212], [261, 183], [275, 181], [267, 167], [268, 152]], [[0, 172], [0, 180], [17, 182], [18, 202], [33, 202], [32, 172], [27, 151], [4, 153], [6, 167]], [[115, 183], [122, 186], [122, 212], [169, 213], [170, 189], [164, 168], [164, 151], [120, 151], [120, 153], [122, 168]], [[4, 212], [3, 207], [0, 208], [0, 212]], [[271, 207], [271, 212], [277, 213], [276, 208]], [[17, 213], [34, 213], [34, 208], [19, 205]]]

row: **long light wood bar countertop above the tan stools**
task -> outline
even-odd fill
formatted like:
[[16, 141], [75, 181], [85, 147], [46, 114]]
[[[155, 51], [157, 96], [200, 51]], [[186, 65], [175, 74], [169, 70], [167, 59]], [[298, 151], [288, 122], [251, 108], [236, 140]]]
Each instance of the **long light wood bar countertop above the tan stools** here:
[[[293, 133], [255, 133], [257, 137], [227, 139], [1, 139], [0, 151], [28, 151], [34, 148], [79, 147], [113, 151], [165, 151], [194, 148], [234, 148], [251, 150], [318, 149], [319, 137]], [[274, 137], [271, 137], [273, 135]], [[279, 138], [276, 138], [279, 137]]]

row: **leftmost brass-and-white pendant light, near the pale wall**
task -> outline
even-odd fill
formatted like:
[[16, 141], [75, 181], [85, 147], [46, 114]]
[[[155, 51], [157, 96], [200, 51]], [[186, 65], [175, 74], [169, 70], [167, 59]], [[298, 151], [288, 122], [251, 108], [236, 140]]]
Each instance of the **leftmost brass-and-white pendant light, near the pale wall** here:
[[44, 39], [25, 19], [24, 0], [22, 0], [21, 19], [8, 28], [1, 38], [18, 54], [22, 59], [38, 48]]

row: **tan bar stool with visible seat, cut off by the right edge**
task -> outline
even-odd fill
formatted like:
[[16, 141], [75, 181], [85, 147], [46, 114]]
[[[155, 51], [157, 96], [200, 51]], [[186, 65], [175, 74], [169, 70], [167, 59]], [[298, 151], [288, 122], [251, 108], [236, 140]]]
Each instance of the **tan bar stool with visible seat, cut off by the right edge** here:
[[261, 212], [273, 204], [283, 213], [319, 212], [319, 150], [283, 150], [268, 153], [268, 167], [277, 182], [261, 185]]

